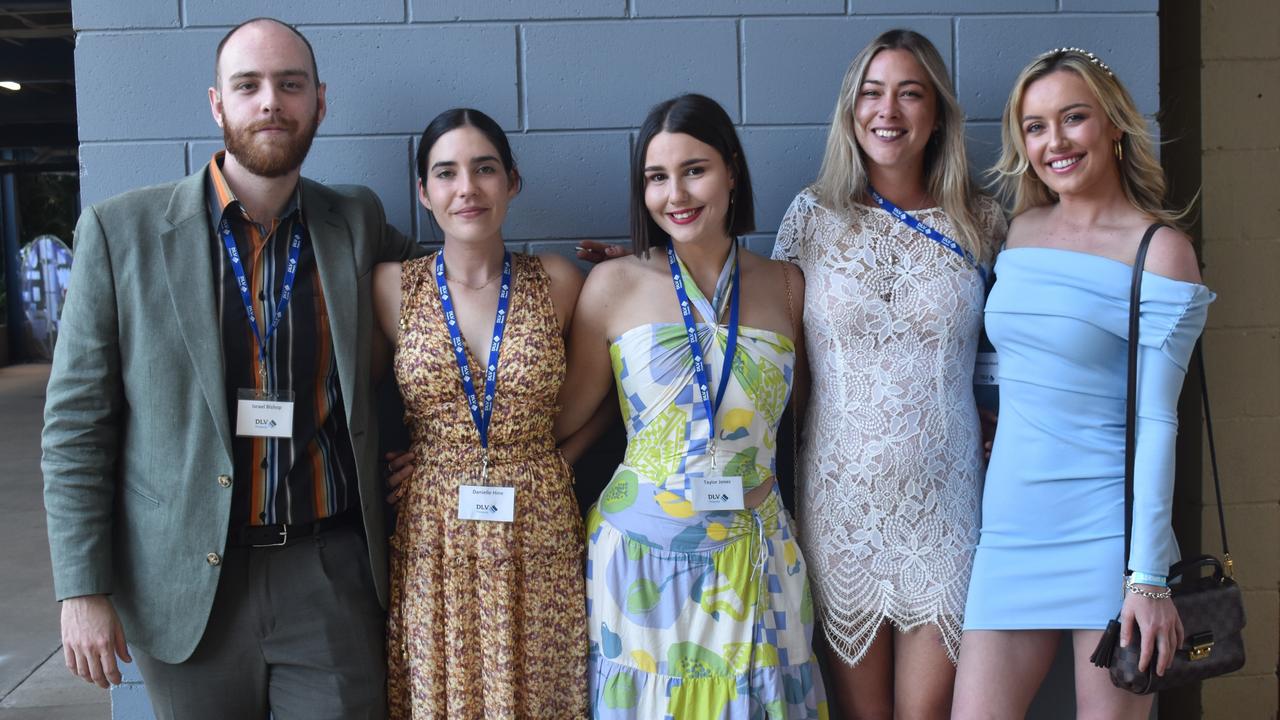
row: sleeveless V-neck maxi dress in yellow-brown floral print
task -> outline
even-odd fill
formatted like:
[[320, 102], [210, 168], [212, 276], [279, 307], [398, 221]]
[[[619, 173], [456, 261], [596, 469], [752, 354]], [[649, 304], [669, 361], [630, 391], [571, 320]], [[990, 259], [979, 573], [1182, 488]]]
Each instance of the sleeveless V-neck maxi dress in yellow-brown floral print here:
[[[394, 368], [417, 469], [392, 537], [393, 719], [586, 716], [582, 525], [571, 470], [552, 439], [564, 343], [541, 263], [512, 258], [488, 484], [516, 488], [513, 523], [457, 519], [458, 486], [481, 484], [480, 439], [434, 256], [404, 264]], [[484, 354], [477, 361], [467, 352], [477, 379]]]

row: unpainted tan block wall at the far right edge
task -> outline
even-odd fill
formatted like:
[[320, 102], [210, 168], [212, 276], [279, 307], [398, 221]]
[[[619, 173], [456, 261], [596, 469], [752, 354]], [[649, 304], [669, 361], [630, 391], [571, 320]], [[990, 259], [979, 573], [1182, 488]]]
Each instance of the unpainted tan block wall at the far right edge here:
[[[1204, 683], [1204, 717], [1277, 715], [1280, 662], [1280, 4], [1201, 0], [1204, 352], [1248, 662]], [[1206, 451], [1206, 459], [1208, 457]], [[1204, 470], [1202, 547], [1217, 551]]]

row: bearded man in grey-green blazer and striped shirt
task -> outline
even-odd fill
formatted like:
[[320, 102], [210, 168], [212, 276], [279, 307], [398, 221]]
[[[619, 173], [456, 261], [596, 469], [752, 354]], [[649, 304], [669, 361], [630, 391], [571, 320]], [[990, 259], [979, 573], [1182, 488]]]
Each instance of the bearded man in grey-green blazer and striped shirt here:
[[294, 28], [232, 29], [209, 102], [225, 152], [77, 225], [42, 442], [67, 666], [108, 687], [132, 647], [160, 717], [380, 717], [369, 273], [415, 246], [301, 178]]

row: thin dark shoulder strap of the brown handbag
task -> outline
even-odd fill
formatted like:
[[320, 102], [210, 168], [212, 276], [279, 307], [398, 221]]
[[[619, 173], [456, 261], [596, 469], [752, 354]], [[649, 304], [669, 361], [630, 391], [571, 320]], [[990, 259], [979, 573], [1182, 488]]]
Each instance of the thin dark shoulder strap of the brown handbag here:
[[[1128, 393], [1125, 397], [1125, 433], [1124, 433], [1124, 568], [1129, 573], [1129, 551], [1133, 543], [1133, 469], [1138, 419], [1138, 311], [1142, 302], [1142, 269], [1147, 261], [1147, 249], [1156, 231], [1165, 227], [1164, 223], [1153, 223], [1142, 236], [1138, 243], [1138, 254], [1133, 261], [1133, 281], [1129, 287], [1129, 373]], [[1213, 496], [1217, 502], [1217, 527], [1222, 536], [1222, 562], [1228, 578], [1233, 574], [1231, 551], [1226, 543], [1226, 515], [1222, 511], [1222, 482], [1217, 473], [1217, 447], [1213, 443], [1213, 421], [1208, 410], [1208, 382], [1204, 375], [1204, 348], [1203, 343], [1196, 341], [1196, 365], [1199, 368], [1201, 398], [1204, 405], [1204, 433], [1208, 437], [1210, 465], [1213, 469]]]

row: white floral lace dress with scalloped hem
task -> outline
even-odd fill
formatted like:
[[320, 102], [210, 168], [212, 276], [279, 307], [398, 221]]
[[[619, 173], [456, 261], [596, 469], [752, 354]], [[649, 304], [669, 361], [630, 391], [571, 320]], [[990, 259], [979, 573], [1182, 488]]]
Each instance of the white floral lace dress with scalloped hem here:
[[[989, 199], [980, 210], [998, 246], [1004, 215]], [[940, 208], [914, 214], [954, 232]], [[978, 542], [982, 278], [879, 208], [837, 214], [808, 190], [773, 256], [805, 274], [813, 392], [796, 520], [828, 642], [852, 665], [883, 620], [936, 624], [954, 662]]]

